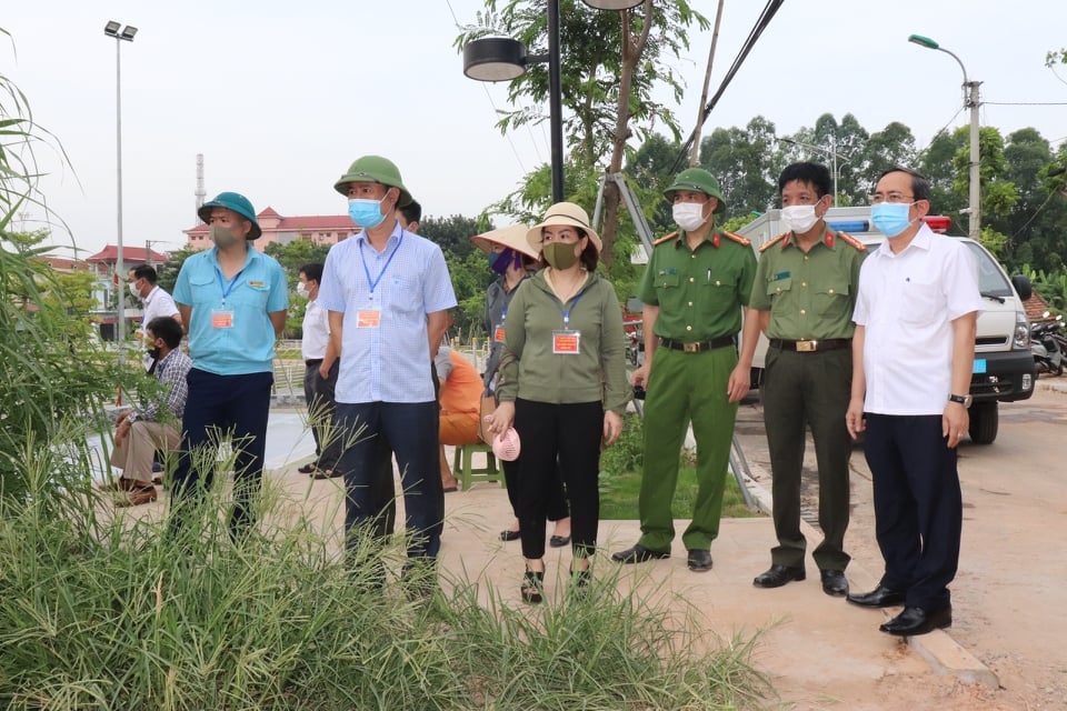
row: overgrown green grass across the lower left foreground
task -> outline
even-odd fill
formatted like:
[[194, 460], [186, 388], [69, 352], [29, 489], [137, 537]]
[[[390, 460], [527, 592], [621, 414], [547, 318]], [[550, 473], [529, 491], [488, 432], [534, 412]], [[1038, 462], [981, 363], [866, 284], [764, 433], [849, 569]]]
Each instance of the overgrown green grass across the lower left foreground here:
[[[221, 481], [174, 538], [89, 485], [52, 493], [53, 464], [31, 459], [31, 495], [0, 500], [0, 708], [688, 710], [768, 692], [749, 643], [708, 644], [684, 602], [612, 578], [530, 608], [442, 571], [427, 600], [346, 568], [336, 533], [270, 491], [240, 544]], [[405, 545], [360, 554], [398, 570]]]

